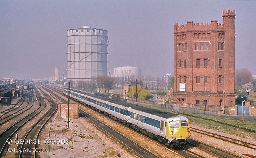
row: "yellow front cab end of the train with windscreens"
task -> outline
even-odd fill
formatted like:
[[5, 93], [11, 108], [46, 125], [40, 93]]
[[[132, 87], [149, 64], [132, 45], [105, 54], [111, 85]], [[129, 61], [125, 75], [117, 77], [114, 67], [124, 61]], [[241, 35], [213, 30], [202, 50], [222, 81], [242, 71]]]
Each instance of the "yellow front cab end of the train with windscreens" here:
[[188, 121], [168, 121], [165, 126], [166, 137], [172, 142], [171, 146], [181, 147], [191, 141]]

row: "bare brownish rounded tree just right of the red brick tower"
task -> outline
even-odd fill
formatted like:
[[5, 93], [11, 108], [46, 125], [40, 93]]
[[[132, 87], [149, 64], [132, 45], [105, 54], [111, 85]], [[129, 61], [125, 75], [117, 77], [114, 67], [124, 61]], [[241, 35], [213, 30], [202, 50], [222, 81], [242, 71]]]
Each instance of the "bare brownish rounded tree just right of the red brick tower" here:
[[247, 68], [241, 68], [236, 70], [236, 77], [235, 77], [235, 85], [242, 86], [248, 82], [253, 81], [252, 72], [249, 71]]

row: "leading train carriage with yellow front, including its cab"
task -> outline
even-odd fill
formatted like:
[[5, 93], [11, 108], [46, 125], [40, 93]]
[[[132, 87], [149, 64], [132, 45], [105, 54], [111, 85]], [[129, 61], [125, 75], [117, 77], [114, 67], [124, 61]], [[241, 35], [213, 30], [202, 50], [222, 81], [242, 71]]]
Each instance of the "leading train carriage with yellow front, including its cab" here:
[[187, 117], [142, 106], [133, 106], [130, 109], [130, 121], [140, 128], [140, 132], [168, 146], [182, 146], [186, 141], [190, 141], [191, 134]]

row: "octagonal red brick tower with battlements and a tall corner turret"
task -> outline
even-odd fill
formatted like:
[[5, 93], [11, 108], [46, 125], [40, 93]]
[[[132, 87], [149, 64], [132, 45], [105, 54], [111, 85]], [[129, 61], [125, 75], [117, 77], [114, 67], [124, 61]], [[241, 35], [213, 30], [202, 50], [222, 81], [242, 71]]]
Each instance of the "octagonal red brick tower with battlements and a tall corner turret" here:
[[235, 105], [235, 16], [228, 10], [223, 24], [174, 24], [174, 102], [222, 105], [223, 87], [224, 106]]

